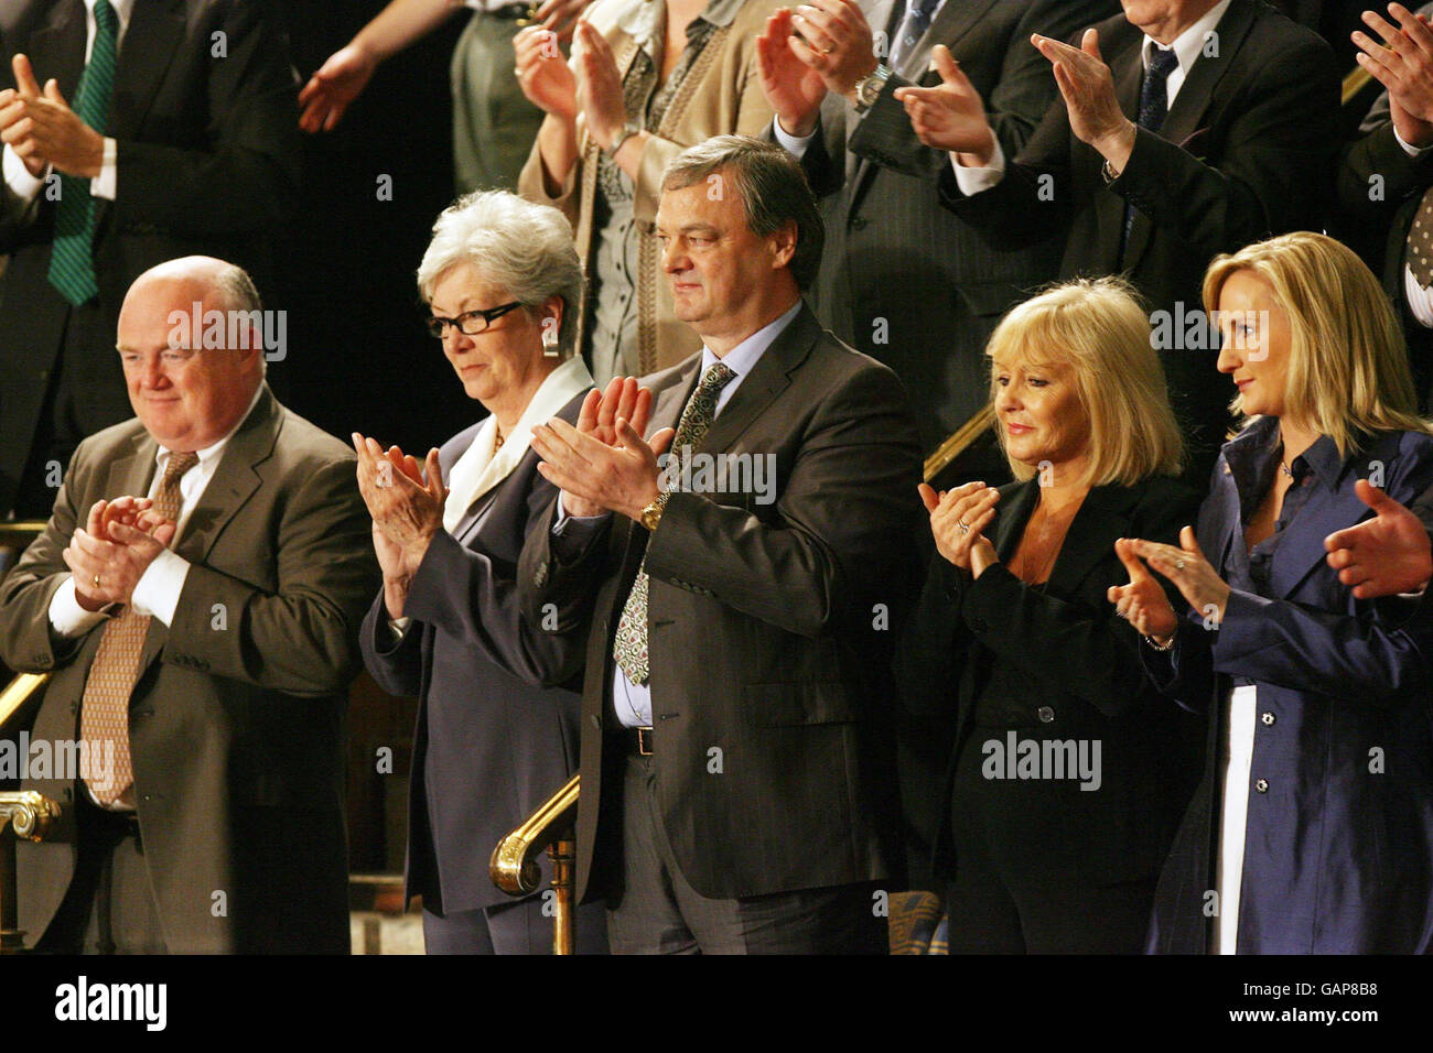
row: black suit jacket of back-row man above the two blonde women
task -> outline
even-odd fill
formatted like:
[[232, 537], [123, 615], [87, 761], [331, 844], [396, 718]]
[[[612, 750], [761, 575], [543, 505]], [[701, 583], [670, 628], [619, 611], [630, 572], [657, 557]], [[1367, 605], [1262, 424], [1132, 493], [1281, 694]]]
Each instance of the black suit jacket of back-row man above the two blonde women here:
[[[1144, 33], [1123, 16], [1098, 29], [1121, 109], [1134, 120]], [[1182, 302], [1187, 312], [1201, 311], [1204, 271], [1215, 255], [1274, 234], [1323, 229], [1338, 148], [1338, 69], [1328, 44], [1258, 0], [1234, 0], [1215, 32], [1218, 54], [1207, 52], [1192, 66], [1158, 135], [1139, 130], [1113, 182], [1105, 182], [1103, 158], [1075, 138], [1058, 99], [992, 189], [966, 198], [947, 166], [946, 205], [993, 244], [1025, 244], [1065, 225], [1060, 277], [1123, 272], [1154, 309], [1174, 312]], [[1126, 202], [1135, 219], [1121, 252]], [[1191, 479], [1201, 483], [1234, 394], [1215, 372], [1217, 354], [1161, 352], [1195, 446]]]

